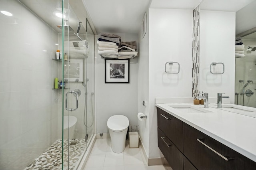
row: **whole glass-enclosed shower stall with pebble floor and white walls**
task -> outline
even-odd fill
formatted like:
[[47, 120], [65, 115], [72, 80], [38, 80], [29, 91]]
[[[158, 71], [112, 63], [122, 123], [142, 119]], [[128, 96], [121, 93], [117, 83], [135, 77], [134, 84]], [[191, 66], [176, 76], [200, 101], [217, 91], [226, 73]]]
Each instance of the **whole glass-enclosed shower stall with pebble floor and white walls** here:
[[69, 1], [0, 0], [1, 170], [78, 169], [95, 136], [94, 32]]

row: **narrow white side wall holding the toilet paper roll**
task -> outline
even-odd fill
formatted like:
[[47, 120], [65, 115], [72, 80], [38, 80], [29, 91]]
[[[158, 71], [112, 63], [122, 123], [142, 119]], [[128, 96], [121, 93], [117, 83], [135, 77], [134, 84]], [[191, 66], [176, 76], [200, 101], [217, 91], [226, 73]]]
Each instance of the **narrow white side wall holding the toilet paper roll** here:
[[[146, 12], [146, 34], [144, 38], [142, 38], [142, 29], [139, 34], [139, 54], [138, 57], [138, 113], [142, 112], [148, 116], [149, 113], [149, 13]], [[141, 24], [142, 28], [142, 24]], [[147, 103], [146, 107], [142, 105], [142, 101]], [[148, 156], [149, 150], [149, 119], [144, 119], [143, 121], [138, 121], [139, 125], [139, 135], [146, 150], [146, 154]]]

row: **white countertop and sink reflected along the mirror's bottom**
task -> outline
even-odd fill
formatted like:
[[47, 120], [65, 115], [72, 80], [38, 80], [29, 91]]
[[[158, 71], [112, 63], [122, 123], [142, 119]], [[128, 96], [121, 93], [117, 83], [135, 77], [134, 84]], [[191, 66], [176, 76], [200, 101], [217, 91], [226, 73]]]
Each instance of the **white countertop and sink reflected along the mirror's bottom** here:
[[[210, 107], [217, 108], [217, 105], [212, 105], [212, 106], [210, 105]], [[248, 108], [241, 105], [222, 105], [222, 108], [217, 108], [217, 109], [256, 118], [255, 108]]]

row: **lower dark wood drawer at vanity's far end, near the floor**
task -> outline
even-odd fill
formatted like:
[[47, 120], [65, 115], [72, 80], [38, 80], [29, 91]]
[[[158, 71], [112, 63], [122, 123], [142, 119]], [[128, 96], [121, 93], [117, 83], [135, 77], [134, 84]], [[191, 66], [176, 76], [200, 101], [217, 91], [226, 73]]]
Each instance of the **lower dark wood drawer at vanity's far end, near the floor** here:
[[158, 147], [173, 170], [183, 170], [183, 154], [158, 128]]

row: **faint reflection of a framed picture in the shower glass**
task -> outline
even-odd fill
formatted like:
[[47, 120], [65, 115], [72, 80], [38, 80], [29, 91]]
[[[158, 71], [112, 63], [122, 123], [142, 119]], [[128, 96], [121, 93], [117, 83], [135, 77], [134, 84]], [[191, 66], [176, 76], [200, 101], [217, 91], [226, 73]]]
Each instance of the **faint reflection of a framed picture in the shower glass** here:
[[70, 59], [69, 62], [64, 63], [64, 79], [68, 79], [68, 81], [73, 81], [73, 82], [83, 81], [83, 60], [82, 59]]

